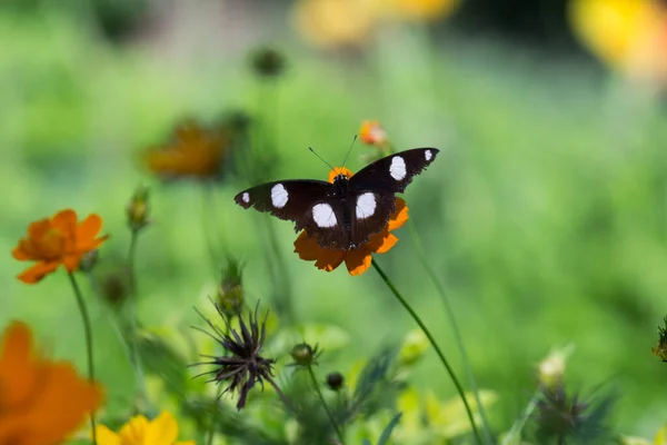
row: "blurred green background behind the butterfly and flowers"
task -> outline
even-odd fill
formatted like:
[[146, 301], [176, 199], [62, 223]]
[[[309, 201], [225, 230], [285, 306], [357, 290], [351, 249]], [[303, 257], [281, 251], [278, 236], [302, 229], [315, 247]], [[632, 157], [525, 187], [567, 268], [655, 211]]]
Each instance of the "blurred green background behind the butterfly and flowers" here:
[[[518, 6], [517, 6], [518, 7]], [[555, 346], [574, 344], [568, 383], [603, 384], [620, 396], [618, 429], [649, 436], [667, 418], [667, 369], [650, 347], [667, 313], [667, 121], [655, 89], [605, 70], [580, 49], [504, 39], [457, 16], [437, 27], [386, 23], [359, 47], [320, 49], [295, 30], [290, 2], [4, 2], [0, 6], [0, 325], [30, 322], [54, 356], [83, 367], [77, 307], [64, 274], [37, 286], [16, 279], [10, 250], [27, 225], [71, 207], [98, 212], [125, 255], [125, 206], [151, 186], [152, 226], [141, 237], [139, 317], [161, 325], [215, 286], [197, 184], [163, 185], [138, 156], [180, 118], [240, 109], [270, 116], [281, 164], [275, 178], [326, 178], [364, 119], [379, 119], [399, 149], [432, 146], [438, 162], [405, 194], [431, 266], [446, 285], [480, 387], [497, 390], [494, 424], [508, 428], [535, 388], [534, 369]], [[479, 6], [484, 8], [484, 4]], [[567, 32], [564, 31], [564, 32]], [[524, 44], [524, 43], [525, 44]], [[287, 58], [277, 101], [266, 103], [249, 51], [276, 44]], [[268, 109], [272, 107], [272, 109]], [[349, 166], [372, 148], [358, 142]], [[260, 217], [215, 190], [217, 231], [247, 265], [249, 299], [270, 304], [257, 231]], [[292, 254], [290, 224], [275, 221], [300, 320], [350, 333], [336, 358], [399, 340], [412, 320], [375, 271], [317, 270]], [[409, 231], [377, 257], [462, 368], [439, 296]], [[88, 291], [88, 285], [84, 285]], [[91, 300], [98, 374], [109, 409], [133, 377]], [[311, 339], [313, 343], [317, 339]], [[435, 355], [415, 378], [455, 395]]]

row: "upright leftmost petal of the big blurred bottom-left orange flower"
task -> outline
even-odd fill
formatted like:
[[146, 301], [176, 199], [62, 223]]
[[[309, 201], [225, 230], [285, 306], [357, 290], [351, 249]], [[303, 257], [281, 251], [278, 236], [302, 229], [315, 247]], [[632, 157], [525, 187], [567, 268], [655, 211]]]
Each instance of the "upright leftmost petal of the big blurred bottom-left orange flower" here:
[[0, 348], [1, 406], [11, 408], [31, 396], [38, 383], [36, 365], [30, 327], [21, 322], [12, 323], [4, 329]]

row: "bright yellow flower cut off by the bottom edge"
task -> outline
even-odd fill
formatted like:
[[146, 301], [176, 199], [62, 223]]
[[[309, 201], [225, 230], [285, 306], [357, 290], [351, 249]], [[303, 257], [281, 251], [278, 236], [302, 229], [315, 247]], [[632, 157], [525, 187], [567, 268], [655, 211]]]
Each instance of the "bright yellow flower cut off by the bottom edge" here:
[[97, 427], [98, 445], [195, 445], [195, 441], [178, 442], [177, 438], [178, 424], [168, 412], [153, 421], [135, 416], [118, 433], [104, 425]]

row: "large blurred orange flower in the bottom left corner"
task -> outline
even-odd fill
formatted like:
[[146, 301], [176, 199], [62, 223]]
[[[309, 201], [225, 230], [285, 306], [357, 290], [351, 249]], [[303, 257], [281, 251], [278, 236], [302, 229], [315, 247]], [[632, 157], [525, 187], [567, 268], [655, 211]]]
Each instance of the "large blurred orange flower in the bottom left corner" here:
[[0, 344], [0, 444], [59, 444], [102, 400], [102, 389], [71, 364], [39, 357], [30, 328], [20, 322]]

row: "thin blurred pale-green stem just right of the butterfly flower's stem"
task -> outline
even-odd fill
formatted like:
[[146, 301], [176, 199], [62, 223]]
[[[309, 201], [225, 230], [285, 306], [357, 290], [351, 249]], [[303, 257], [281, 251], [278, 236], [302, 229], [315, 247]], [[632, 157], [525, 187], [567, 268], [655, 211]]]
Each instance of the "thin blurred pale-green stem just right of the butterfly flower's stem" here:
[[436, 287], [438, 294], [440, 294], [440, 299], [442, 300], [442, 305], [445, 306], [445, 312], [447, 313], [447, 319], [449, 325], [451, 326], [451, 330], [454, 332], [454, 339], [461, 355], [461, 360], [464, 362], [464, 370], [466, 372], [466, 379], [472, 389], [472, 395], [475, 396], [475, 402], [477, 403], [477, 411], [479, 412], [479, 417], [481, 419], [481, 424], [484, 426], [485, 441], [488, 444], [492, 444], [492, 435], [489, 427], [489, 423], [486, 417], [486, 413], [484, 411], [484, 406], [481, 404], [481, 398], [479, 397], [479, 389], [477, 387], [477, 382], [475, 382], [475, 375], [472, 374], [472, 367], [470, 366], [470, 360], [468, 359], [468, 353], [466, 352], [466, 346], [464, 345], [464, 338], [461, 336], [461, 332], [458, 327], [458, 323], [456, 322], [456, 317], [454, 315], [454, 308], [451, 307], [451, 301], [449, 300], [447, 293], [445, 291], [445, 287], [438, 279], [436, 273], [430, 267], [426, 259], [426, 255], [424, 251], [424, 246], [421, 245], [421, 240], [419, 239], [419, 234], [417, 228], [415, 227], [415, 222], [412, 219], [408, 220], [408, 228], [410, 230], [410, 235], [412, 237], [412, 244], [415, 245], [415, 250], [417, 251], [417, 256], [421, 261], [421, 266], [426, 270], [429, 276], [431, 283]]

